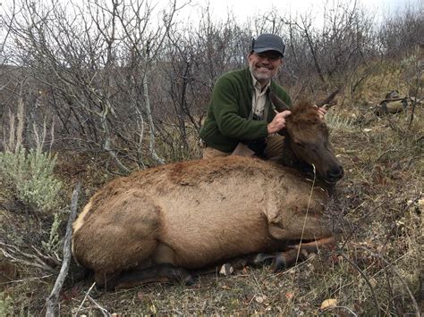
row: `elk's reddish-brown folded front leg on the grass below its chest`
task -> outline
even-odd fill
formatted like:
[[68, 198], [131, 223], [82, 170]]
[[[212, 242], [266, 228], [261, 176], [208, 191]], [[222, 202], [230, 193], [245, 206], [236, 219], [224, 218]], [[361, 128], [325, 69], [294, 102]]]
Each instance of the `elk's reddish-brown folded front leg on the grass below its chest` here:
[[293, 266], [296, 262], [302, 262], [308, 259], [308, 254], [316, 253], [320, 248], [330, 249], [335, 246], [335, 238], [320, 238], [318, 240], [301, 243], [293, 247], [293, 249], [276, 255], [273, 262], [273, 270], [281, 271], [285, 268]]

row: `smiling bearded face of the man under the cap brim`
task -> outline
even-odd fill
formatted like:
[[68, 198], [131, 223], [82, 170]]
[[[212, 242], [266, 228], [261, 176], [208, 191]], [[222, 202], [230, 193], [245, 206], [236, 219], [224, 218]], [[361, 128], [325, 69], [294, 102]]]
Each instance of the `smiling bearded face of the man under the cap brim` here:
[[272, 79], [283, 64], [283, 58], [275, 51], [252, 53], [249, 54], [248, 60], [251, 74], [260, 83]]

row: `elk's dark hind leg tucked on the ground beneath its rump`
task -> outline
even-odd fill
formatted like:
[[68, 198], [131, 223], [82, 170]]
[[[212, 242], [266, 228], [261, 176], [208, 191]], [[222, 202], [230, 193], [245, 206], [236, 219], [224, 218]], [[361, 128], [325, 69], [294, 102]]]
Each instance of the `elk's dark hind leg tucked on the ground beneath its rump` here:
[[106, 284], [106, 289], [133, 288], [153, 282], [183, 282], [185, 285], [193, 285], [194, 279], [189, 271], [173, 264], [163, 263], [143, 270], [123, 272], [114, 279], [109, 280]]

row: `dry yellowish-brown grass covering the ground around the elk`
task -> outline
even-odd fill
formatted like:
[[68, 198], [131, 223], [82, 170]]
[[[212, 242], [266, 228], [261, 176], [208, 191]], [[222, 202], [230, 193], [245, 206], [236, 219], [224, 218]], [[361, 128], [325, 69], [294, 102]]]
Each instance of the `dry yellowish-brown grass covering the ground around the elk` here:
[[[381, 85], [379, 95], [377, 88], [368, 93], [368, 103], [361, 95], [328, 114], [335, 151], [345, 170], [330, 205], [330, 212], [347, 220], [334, 253], [316, 254], [279, 273], [267, 267], [247, 268], [230, 277], [202, 276], [194, 287], [152, 284], [116, 292], [89, 291], [90, 279], [72, 280], [80, 271], [74, 267], [61, 296], [61, 313], [100, 315], [103, 307], [108, 313], [125, 315], [403, 315], [419, 313], [417, 305], [422, 312], [424, 111], [422, 105], [417, 107], [408, 129], [411, 112], [377, 117], [369, 106], [394, 84], [392, 80]], [[58, 171], [78, 170], [76, 163], [68, 164]], [[91, 179], [87, 196], [110, 178], [89, 166], [78, 175]], [[102, 180], [93, 181], [93, 175]], [[72, 172], [64, 179], [71, 182]], [[11, 199], [2, 189], [3, 229], [9, 233], [39, 230], [29, 226], [39, 223], [37, 217], [22, 212]], [[38, 236], [31, 242], [37, 243], [43, 235]], [[26, 244], [30, 241], [20, 242], [22, 247]], [[45, 277], [45, 271], [22, 265], [18, 271], [15, 281], [3, 282], [0, 288], [0, 312], [2, 303], [9, 313], [43, 312], [55, 276]], [[335, 298], [337, 306], [321, 310], [328, 298]]]

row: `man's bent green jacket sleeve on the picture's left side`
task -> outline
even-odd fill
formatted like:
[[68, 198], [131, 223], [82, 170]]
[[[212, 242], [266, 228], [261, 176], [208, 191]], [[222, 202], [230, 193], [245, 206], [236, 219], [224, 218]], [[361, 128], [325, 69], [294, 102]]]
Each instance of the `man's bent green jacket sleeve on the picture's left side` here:
[[240, 140], [267, 137], [267, 121], [252, 121], [239, 114], [242, 89], [237, 89], [234, 81], [221, 77], [216, 81], [212, 92], [212, 112], [218, 129], [224, 136]]

